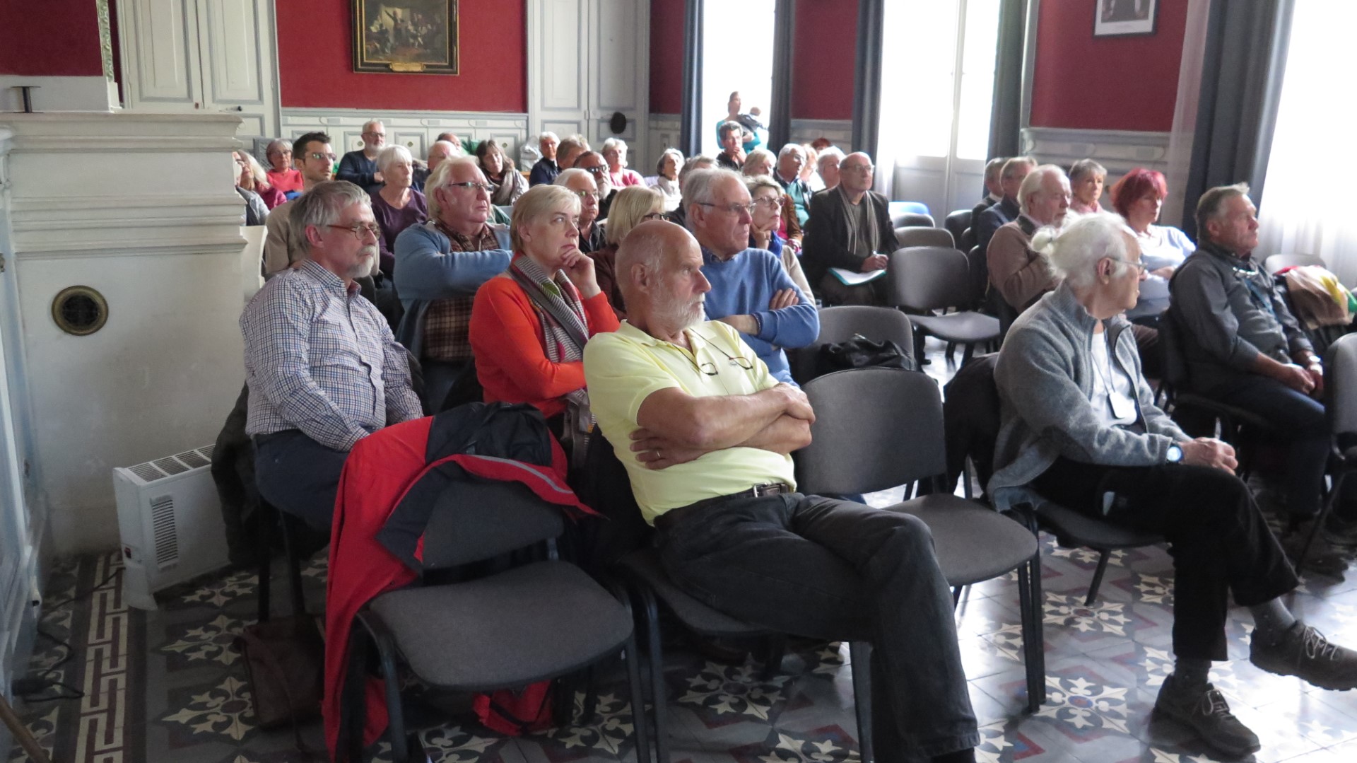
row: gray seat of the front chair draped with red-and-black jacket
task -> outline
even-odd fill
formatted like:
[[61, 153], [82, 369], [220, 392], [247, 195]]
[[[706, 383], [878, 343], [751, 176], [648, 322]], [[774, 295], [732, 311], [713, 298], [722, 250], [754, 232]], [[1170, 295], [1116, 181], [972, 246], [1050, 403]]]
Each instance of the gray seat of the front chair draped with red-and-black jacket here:
[[555, 561], [392, 591], [370, 610], [421, 680], [465, 691], [573, 672], [631, 635], [631, 615], [617, 599], [579, 567]]

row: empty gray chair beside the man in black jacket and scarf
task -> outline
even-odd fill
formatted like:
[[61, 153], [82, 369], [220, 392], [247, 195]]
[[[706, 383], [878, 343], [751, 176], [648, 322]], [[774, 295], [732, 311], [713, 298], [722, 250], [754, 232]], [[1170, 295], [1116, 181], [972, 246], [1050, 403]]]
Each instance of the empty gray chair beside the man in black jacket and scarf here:
[[[936, 315], [935, 310], [965, 308], [974, 303], [970, 263], [951, 247], [909, 247], [890, 255], [886, 270], [886, 304], [912, 314], [915, 357], [923, 357], [923, 337], [932, 334], [965, 348], [962, 362], [976, 345], [997, 342], [999, 319], [972, 311]], [[921, 331], [920, 331], [921, 330]]]

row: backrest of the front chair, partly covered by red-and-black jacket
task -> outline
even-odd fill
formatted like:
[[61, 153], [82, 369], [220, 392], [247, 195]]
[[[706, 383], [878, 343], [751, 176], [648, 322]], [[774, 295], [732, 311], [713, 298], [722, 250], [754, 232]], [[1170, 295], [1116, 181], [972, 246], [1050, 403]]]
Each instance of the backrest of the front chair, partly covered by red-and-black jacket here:
[[560, 509], [518, 482], [459, 482], [438, 497], [423, 536], [426, 570], [498, 557], [558, 538]]

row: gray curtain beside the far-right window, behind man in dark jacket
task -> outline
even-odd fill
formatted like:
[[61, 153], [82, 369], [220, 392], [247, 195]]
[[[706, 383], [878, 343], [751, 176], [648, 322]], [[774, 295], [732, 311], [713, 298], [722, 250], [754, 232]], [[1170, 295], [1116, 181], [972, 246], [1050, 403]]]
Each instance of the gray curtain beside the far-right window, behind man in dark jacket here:
[[[1183, 231], [1197, 238], [1197, 200], [1206, 189], [1247, 182], [1262, 204], [1293, 0], [1216, 0], [1206, 20], [1201, 100], [1183, 191]], [[1342, 72], [1334, 72], [1342, 79]]]

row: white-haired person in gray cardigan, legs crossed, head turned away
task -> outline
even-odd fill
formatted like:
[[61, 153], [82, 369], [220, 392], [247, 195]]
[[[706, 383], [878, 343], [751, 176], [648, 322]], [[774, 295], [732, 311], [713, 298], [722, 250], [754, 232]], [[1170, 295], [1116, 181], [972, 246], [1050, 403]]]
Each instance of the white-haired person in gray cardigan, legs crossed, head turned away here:
[[1278, 600], [1296, 574], [1235, 477], [1234, 448], [1187, 437], [1155, 406], [1121, 315], [1145, 278], [1122, 219], [1090, 215], [1053, 242], [1038, 232], [1034, 247], [1063, 282], [1018, 318], [999, 353], [1003, 426], [991, 493], [1011, 504], [1034, 491], [1167, 538], [1177, 661], [1155, 711], [1221, 752], [1254, 752], [1258, 737], [1208, 683], [1210, 661], [1227, 658], [1227, 593], [1254, 615], [1250, 660], [1265, 671], [1348, 690], [1357, 687], [1357, 652], [1330, 644]]

